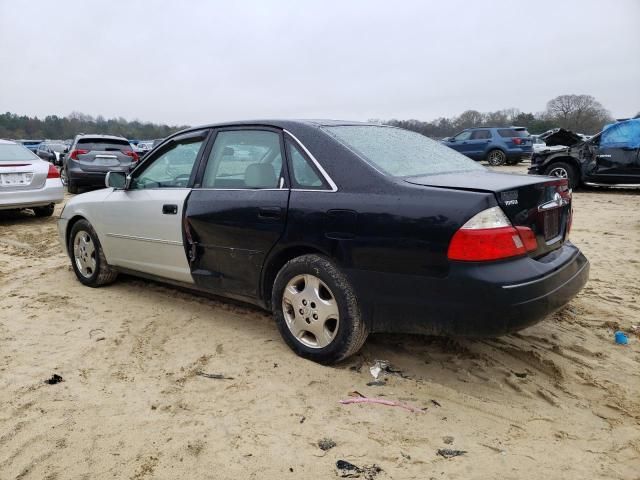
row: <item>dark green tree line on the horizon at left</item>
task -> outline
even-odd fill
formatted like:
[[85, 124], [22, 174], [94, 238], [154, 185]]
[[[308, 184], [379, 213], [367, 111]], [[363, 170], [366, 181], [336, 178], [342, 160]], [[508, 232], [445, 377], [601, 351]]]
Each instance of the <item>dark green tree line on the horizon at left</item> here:
[[48, 115], [43, 119], [6, 112], [0, 114], [0, 138], [71, 139], [79, 133], [120, 135], [129, 139], [164, 138], [185, 126], [127, 121], [124, 118], [92, 117], [73, 112], [66, 117]]

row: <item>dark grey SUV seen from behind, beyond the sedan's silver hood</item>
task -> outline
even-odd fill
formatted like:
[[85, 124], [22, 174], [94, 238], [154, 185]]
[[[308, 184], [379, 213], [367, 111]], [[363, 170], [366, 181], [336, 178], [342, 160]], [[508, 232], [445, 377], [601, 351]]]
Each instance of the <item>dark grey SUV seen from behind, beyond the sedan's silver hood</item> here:
[[64, 158], [60, 177], [69, 193], [78, 193], [78, 187], [104, 187], [107, 172], [129, 172], [138, 160], [124, 137], [77, 135]]

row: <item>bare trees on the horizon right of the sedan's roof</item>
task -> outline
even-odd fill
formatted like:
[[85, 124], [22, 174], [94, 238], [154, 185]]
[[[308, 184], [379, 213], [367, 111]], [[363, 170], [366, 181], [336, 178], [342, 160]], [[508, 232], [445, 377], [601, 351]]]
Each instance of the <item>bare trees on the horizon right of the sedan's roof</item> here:
[[[640, 112], [638, 115], [640, 116]], [[613, 120], [609, 111], [591, 95], [560, 95], [547, 102], [539, 113], [521, 112], [517, 108], [478, 112], [467, 110], [457, 117], [440, 117], [427, 122], [420, 120], [375, 120], [413, 130], [432, 138], [443, 138], [471, 127], [526, 127], [532, 134], [562, 127], [577, 133], [593, 135]]]

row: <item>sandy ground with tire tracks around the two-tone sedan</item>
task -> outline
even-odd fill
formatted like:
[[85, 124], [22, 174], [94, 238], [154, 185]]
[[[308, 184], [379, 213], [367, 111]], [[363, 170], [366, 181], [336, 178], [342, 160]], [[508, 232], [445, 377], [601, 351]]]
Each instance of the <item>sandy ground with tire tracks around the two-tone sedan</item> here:
[[[339, 459], [378, 479], [640, 478], [640, 338], [613, 341], [640, 324], [640, 192], [574, 206], [592, 273], [562, 312], [491, 340], [375, 335], [336, 367], [254, 308], [83, 287], [55, 217], [0, 214], [0, 479], [336, 478]], [[367, 386], [375, 359], [404, 376]], [[426, 410], [338, 403], [352, 391]]]

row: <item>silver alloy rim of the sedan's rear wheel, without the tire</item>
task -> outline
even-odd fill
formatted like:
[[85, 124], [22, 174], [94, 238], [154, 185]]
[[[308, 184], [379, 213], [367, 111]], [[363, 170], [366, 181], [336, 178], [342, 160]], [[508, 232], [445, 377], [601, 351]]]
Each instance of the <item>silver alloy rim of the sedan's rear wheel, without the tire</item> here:
[[309, 348], [326, 347], [338, 333], [338, 302], [329, 287], [314, 275], [297, 275], [287, 283], [282, 311], [293, 336]]

